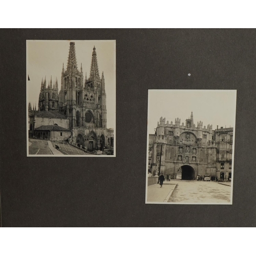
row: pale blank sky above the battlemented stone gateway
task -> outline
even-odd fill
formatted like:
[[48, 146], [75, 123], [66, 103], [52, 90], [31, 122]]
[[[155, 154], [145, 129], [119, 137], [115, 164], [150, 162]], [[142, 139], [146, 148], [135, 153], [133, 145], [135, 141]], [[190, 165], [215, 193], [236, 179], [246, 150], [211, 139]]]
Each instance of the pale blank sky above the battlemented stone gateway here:
[[160, 117], [169, 123], [179, 117], [186, 123], [193, 111], [194, 123], [202, 121], [212, 129], [234, 127], [236, 90], [148, 90], [148, 133], [154, 134]]

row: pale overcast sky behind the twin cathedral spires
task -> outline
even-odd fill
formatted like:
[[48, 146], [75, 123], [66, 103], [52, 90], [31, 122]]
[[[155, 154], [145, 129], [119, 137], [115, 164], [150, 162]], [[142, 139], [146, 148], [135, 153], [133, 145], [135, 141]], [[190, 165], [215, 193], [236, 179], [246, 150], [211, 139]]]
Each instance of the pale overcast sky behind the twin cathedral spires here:
[[[93, 47], [96, 48], [100, 77], [105, 78], [107, 126], [115, 129], [116, 120], [116, 45], [115, 40], [27, 40], [27, 105], [38, 106], [42, 78], [58, 78], [61, 87], [62, 63], [67, 68], [70, 41], [75, 42], [77, 66], [89, 78]], [[28, 80], [28, 79], [27, 79]], [[83, 81], [84, 83], [84, 81]]]

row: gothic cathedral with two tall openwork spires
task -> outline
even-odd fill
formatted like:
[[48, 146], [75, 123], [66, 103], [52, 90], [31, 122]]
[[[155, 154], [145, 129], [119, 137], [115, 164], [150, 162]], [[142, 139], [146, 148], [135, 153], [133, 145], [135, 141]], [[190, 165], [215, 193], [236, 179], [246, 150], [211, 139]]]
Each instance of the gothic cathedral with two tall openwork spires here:
[[[29, 105], [30, 136], [43, 131], [46, 125], [69, 129], [69, 142], [88, 151], [103, 149], [107, 137], [106, 93], [104, 74], [100, 75], [96, 48], [93, 48], [89, 77], [78, 68], [75, 42], [70, 42], [67, 68], [62, 65], [61, 85], [58, 80], [42, 79], [38, 110]], [[39, 130], [38, 130], [39, 129]], [[55, 129], [56, 130], [56, 129]], [[66, 138], [65, 138], [66, 139]]]

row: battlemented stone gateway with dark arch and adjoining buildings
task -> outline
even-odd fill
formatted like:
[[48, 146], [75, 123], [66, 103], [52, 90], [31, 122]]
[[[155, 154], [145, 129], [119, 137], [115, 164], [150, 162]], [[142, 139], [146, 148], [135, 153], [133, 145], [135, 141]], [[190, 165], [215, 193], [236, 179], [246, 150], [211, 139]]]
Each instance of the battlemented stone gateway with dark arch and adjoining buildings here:
[[198, 175], [227, 180], [232, 176], [233, 128], [212, 130], [212, 125], [194, 123], [193, 113], [181, 123], [160, 118], [156, 132], [150, 135], [148, 170], [174, 179], [193, 180]]

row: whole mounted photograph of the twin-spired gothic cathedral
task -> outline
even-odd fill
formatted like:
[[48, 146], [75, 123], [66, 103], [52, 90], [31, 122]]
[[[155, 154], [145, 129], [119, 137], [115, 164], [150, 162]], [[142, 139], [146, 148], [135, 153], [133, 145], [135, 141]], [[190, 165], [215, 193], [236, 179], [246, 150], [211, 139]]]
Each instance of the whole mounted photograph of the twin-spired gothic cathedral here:
[[27, 40], [27, 156], [115, 157], [116, 41]]

